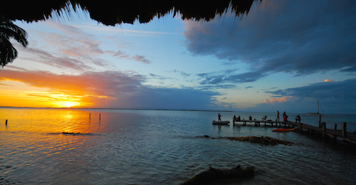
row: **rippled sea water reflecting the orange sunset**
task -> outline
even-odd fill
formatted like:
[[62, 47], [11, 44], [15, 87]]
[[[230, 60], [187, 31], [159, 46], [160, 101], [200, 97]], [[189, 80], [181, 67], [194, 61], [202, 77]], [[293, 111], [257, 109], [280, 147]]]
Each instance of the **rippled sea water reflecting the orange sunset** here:
[[[218, 113], [0, 108], [0, 184], [181, 184], [209, 166], [237, 164], [256, 169], [239, 184], [356, 184], [354, 146], [271, 127], [211, 125]], [[275, 113], [220, 113], [222, 120], [276, 120]], [[288, 114], [289, 120], [295, 115]], [[302, 122], [318, 125], [318, 117], [300, 115]], [[322, 117], [329, 128], [347, 122], [350, 132], [356, 131], [355, 120], [356, 115]], [[204, 135], [268, 136], [294, 144], [263, 146]]]

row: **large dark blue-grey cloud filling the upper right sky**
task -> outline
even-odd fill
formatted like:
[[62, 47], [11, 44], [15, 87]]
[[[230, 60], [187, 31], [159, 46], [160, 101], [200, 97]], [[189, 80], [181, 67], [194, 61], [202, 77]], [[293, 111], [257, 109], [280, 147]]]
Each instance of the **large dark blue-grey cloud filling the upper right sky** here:
[[[313, 11], [310, 11], [313, 7]], [[272, 73], [309, 75], [356, 68], [356, 1], [271, 1], [240, 20], [184, 21], [187, 49], [246, 63], [249, 72], [206, 76], [202, 83], [246, 83]]]

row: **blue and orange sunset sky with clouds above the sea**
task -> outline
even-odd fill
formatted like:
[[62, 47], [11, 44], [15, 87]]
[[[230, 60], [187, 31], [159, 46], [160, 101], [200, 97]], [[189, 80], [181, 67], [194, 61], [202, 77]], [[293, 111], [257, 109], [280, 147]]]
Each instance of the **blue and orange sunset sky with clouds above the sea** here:
[[[356, 114], [356, 1], [270, 0], [213, 21], [14, 23], [2, 107]], [[58, 17], [58, 16], [57, 16]]]

